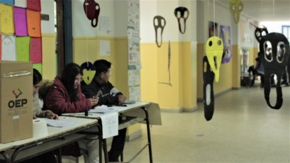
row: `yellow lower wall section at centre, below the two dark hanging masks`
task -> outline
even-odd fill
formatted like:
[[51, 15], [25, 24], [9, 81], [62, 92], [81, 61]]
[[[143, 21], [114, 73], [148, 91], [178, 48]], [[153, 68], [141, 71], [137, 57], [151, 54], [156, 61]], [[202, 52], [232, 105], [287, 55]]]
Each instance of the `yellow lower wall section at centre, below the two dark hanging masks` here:
[[[162, 43], [141, 43], [141, 99], [159, 103], [164, 111], [181, 112], [196, 107], [195, 52], [190, 42], [170, 43], [170, 83], [168, 71], [168, 46]], [[162, 82], [162, 83], [160, 83]]]

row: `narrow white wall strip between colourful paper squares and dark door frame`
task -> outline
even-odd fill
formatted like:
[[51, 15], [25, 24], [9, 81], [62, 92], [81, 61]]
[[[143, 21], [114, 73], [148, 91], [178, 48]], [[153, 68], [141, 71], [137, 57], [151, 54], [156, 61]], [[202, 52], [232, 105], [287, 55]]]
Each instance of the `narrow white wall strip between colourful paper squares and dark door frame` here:
[[[18, 0], [18, 3], [21, 2]], [[41, 0], [41, 13], [50, 16], [49, 21], [41, 21], [41, 33], [55, 33], [55, 1], [53, 0]], [[25, 3], [21, 3], [25, 4]], [[20, 5], [20, 4], [19, 4]]]

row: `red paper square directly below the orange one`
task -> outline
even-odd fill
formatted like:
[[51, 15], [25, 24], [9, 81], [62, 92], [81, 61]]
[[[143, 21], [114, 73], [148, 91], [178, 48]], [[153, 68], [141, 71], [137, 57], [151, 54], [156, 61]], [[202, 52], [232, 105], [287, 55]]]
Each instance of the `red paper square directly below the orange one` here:
[[31, 38], [30, 40], [30, 62], [43, 62], [43, 45], [41, 38]]

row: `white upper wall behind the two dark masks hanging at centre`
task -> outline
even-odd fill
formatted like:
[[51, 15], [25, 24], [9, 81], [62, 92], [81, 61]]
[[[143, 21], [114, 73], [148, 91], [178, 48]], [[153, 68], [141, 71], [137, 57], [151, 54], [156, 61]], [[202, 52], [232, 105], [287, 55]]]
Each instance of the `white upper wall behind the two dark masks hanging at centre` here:
[[[174, 10], [184, 6], [189, 10], [186, 20], [186, 31], [179, 32], [177, 18]], [[162, 16], [166, 25], [162, 33], [162, 42], [196, 41], [196, 1], [186, 0], [140, 0], [140, 37], [141, 43], [155, 43], [155, 28], [153, 18]]]

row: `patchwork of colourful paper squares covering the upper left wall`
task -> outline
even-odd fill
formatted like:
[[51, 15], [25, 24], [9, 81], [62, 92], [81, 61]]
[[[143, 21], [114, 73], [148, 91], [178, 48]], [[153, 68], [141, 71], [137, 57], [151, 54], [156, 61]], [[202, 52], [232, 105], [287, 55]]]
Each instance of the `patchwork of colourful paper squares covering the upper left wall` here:
[[1, 60], [33, 62], [43, 72], [40, 12], [40, 0], [0, 1]]

